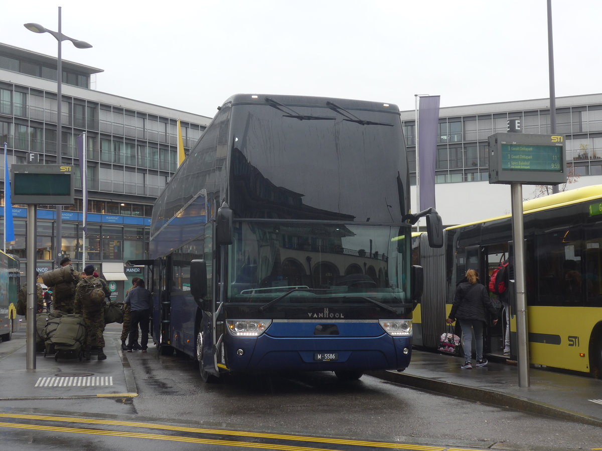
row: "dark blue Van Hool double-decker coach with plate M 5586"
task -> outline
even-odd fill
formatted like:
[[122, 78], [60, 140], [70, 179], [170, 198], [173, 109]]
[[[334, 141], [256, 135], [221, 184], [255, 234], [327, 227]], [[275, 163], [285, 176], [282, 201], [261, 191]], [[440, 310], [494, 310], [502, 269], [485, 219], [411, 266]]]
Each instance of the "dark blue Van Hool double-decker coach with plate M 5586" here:
[[411, 224], [426, 215], [442, 236], [409, 192], [397, 106], [231, 97], [154, 205], [155, 343], [205, 381], [405, 369], [423, 284]]

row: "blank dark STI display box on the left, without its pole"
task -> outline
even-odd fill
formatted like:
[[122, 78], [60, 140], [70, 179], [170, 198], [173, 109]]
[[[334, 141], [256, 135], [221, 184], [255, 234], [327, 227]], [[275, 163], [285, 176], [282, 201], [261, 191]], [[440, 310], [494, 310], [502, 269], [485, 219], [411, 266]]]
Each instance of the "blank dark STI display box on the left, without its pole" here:
[[73, 205], [72, 167], [14, 164], [13, 204]]

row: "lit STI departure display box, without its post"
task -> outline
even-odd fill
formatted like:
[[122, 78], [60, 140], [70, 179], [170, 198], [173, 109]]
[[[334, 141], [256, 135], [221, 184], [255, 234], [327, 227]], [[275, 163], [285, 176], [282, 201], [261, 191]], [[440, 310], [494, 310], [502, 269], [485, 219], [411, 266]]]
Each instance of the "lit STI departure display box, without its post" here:
[[489, 183], [566, 182], [566, 147], [562, 135], [494, 133], [488, 141]]

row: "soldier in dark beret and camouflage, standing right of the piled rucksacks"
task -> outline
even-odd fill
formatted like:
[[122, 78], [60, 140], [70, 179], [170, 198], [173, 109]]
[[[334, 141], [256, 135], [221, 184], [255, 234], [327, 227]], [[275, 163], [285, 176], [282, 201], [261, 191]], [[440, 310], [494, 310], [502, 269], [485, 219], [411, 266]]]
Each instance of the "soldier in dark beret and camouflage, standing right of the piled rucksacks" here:
[[105, 347], [105, 338], [103, 332], [105, 330], [105, 301], [90, 302], [88, 299], [88, 283], [100, 281], [105, 297], [111, 295], [108, 289], [107, 282], [101, 278], [94, 277], [94, 265], [85, 265], [82, 273], [82, 280], [79, 281], [75, 288], [75, 302], [73, 304], [73, 312], [82, 314], [85, 324], [85, 342], [84, 342], [84, 357], [90, 360], [90, 351], [92, 342], [96, 339], [96, 348], [98, 348], [98, 360], [105, 360], [107, 355], [102, 351]]

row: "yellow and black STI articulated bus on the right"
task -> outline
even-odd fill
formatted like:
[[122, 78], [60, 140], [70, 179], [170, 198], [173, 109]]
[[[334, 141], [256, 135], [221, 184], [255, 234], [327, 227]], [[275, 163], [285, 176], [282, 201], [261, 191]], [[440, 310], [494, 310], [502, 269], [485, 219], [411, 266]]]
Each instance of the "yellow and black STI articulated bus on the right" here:
[[[601, 378], [602, 185], [526, 201], [523, 210], [530, 363]], [[517, 357], [511, 221], [505, 215], [448, 227], [442, 249], [429, 248], [426, 233], [414, 234], [412, 263], [436, 280], [425, 286], [414, 310], [414, 346], [437, 348], [456, 284], [467, 269], [476, 269], [487, 286], [500, 261], [509, 259], [509, 308], [497, 325], [488, 322], [485, 352]]]

